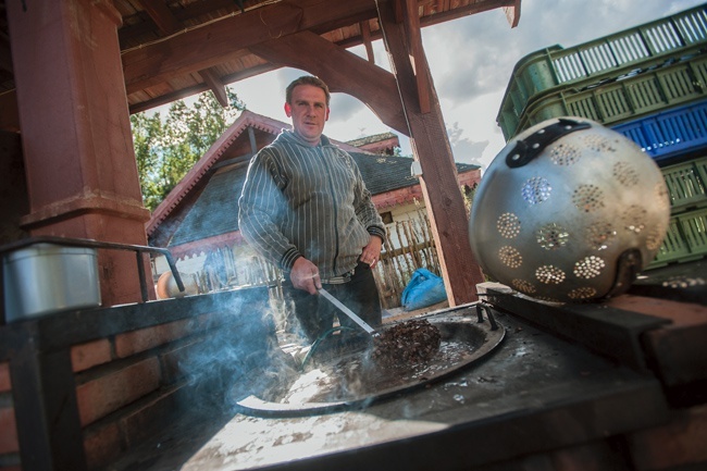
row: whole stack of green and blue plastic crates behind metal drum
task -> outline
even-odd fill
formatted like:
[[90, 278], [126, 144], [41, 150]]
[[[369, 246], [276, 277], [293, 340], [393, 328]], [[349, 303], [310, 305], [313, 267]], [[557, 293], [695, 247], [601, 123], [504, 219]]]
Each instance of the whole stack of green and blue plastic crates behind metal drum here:
[[671, 220], [649, 268], [707, 255], [707, 4], [521, 59], [497, 116], [504, 137], [558, 116], [611, 127], [661, 168]]

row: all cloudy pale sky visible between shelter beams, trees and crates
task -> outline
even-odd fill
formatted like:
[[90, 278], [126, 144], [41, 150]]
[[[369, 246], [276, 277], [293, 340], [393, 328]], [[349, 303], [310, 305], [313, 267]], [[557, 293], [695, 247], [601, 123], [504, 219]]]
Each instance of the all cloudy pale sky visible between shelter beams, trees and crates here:
[[[705, 3], [704, 0], [522, 0], [520, 23], [511, 28], [501, 9], [422, 28], [422, 41], [455, 160], [488, 166], [506, 145], [496, 115], [516, 63], [559, 45], [566, 48], [618, 33]], [[376, 65], [389, 70], [381, 40], [373, 42]], [[365, 58], [363, 47], [349, 51]], [[248, 110], [289, 122], [284, 90], [305, 71], [281, 69], [231, 84]], [[333, 94], [324, 129], [347, 141], [374, 134], [398, 134], [404, 156], [409, 140], [386, 126], [361, 101]]]

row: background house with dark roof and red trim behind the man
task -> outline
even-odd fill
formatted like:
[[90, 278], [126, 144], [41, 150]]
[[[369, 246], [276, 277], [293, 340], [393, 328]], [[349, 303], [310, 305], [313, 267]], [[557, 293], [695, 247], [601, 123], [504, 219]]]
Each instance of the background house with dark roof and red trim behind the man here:
[[[250, 158], [283, 128], [290, 126], [244, 111], [152, 213], [147, 224], [149, 244], [169, 248], [179, 272], [187, 275], [187, 281], [191, 276], [199, 292], [259, 284], [278, 276], [277, 270], [259, 259], [243, 239], [237, 201]], [[424, 227], [426, 214], [420, 181], [412, 175], [412, 158], [394, 156], [399, 147], [397, 136], [384, 133], [350, 142], [332, 140], [356, 160], [388, 227], [389, 240], [383, 253], [385, 262], [388, 252], [388, 270], [399, 271], [400, 265], [406, 265], [404, 271], [409, 272], [421, 264], [434, 268], [436, 256]], [[476, 165], [458, 163], [457, 172], [459, 185], [466, 191], [481, 178]], [[396, 228], [406, 222], [405, 230]], [[412, 245], [427, 253], [406, 255], [406, 248]], [[399, 260], [394, 260], [396, 257]], [[384, 265], [380, 264], [377, 275], [380, 284], [387, 285], [393, 276], [386, 275]], [[158, 257], [153, 275], [158, 280], [164, 273], [169, 277], [169, 267]], [[405, 275], [401, 278], [401, 284], [407, 282]], [[383, 287], [382, 292], [389, 293], [389, 302], [395, 303], [400, 289]], [[158, 295], [169, 296], [160, 283]]]

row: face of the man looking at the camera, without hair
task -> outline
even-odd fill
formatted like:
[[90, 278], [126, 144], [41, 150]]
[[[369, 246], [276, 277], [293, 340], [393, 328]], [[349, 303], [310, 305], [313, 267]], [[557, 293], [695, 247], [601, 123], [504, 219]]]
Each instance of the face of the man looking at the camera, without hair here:
[[296, 86], [292, 103], [285, 103], [285, 114], [293, 119], [293, 127], [299, 137], [312, 146], [318, 145], [328, 120], [324, 90], [313, 85]]

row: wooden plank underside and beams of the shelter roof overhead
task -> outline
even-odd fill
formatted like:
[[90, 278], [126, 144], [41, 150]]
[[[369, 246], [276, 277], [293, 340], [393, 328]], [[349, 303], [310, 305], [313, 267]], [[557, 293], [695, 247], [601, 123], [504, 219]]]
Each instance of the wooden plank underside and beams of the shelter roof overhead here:
[[[10, 102], [15, 88], [8, 1], [0, 0], [0, 103]], [[404, 8], [417, 13], [411, 18], [417, 35], [419, 27], [497, 8], [505, 8], [514, 25], [520, 9], [520, 0], [393, 3], [398, 14]], [[131, 113], [206, 90], [226, 106], [225, 85], [288, 65], [276, 55], [287, 44], [296, 49], [298, 37], [343, 49], [364, 45], [371, 62], [371, 42], [382, 37], [374, 0], [113, 0], [113, 5], [122, 20], [117, 34]], [[348, 87], [330, 86], [357, 96]], [[11, 111], [0, 107], [1, 114]]]

